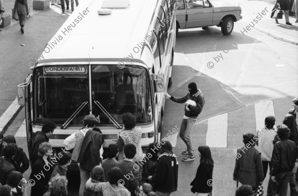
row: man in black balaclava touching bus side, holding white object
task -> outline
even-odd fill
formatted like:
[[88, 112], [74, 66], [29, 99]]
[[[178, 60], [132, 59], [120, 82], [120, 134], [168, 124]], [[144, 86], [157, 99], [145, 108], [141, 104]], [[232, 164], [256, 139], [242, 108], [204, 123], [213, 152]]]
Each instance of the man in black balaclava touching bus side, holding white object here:
[[[185, 103], [185, 108], [184, 108], [185, 114], [181, 123], [179, 135], [187, 146], [187, 150], [183, 151], [182, 154], [187, 154], [188, 156], [182, 159], [182, 161], [195, 160], [195, 157], [193, 154], [194, 149], [191, 142], [190, 133], [192, 131], [192, 126], [197, 121], [197, 117], [202, 112], [205, 104], [204, 96], [201, 90], [197, 89], [197, 84], [195, 82], [191, 82], [188, 85], [188, 90], [189, 90], [189, 93], [187, 93], [187, 95], [181, 98], [172, 97], [167, 92], [164, 93], [164, 95], [167, 98], [170, 98], [172, 101], [176, 103]], [[195, 105], [189, 104], [188, 100], [192, 100], [196, 104]]]

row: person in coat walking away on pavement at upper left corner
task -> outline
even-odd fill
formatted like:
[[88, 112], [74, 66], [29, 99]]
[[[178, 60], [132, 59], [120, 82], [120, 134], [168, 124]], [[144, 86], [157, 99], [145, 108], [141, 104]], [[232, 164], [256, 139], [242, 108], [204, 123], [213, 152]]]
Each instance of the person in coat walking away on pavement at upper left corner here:
[[15, 0], [13, 12], [17, 11], [19, 16], [19, 23], [21, 26], [21, 32], [24, 33], [24, 26], [26, 23], [26, 15], [29, 16], [29, 5], [27, 0]]

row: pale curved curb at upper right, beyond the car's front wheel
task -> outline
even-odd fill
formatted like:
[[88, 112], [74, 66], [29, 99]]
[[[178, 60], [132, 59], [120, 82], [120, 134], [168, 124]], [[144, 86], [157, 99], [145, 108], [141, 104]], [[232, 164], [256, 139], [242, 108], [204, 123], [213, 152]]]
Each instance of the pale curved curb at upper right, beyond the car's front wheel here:
[[[248, 26], [248, 22], [245, 20], [241, 21], [243, 24]], [[293, 37], [284, 35], [278, 31], [274, 31], [272, 29], [269, 29], [267, 27], [265, 27], [262, 24], [258, 24], [259, 27], [254, 26], [253, 29], [255, 29], [256, 31], [259, 31], [260, 33], [263, 33], [269, 37], [272, 37], [274, 39], [289, 43], [289, 44], [293, 44], [293, 45], [298, 45], [298, 39], [295, 39]]]

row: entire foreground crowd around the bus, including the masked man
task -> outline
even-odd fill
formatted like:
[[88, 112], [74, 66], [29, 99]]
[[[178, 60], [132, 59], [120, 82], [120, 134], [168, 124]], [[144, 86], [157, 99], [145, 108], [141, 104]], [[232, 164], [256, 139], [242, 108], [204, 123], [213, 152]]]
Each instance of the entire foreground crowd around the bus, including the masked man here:
[[[180, 136], [187, 147], [182, 154], [187, 157], [182, 161], [191, 161], [194, 157], [190, 140], [192, 121], [201, 113], [205, 102], [195, 83], [190, 83], [188, 88], [189, 93], [182, 98], [165, 93], [171, 100], [185, 103]], [[189, 99], [194, 103], [186, 103]], [[243, 134], [244, 146], [237, 149], [233, 172], [237, 187], [241, 183], [235, 196], [255, 196], [268, 169], [267, 196], [286, 196], [289, 183], [291, 196], [298, 196], [295, 182], [298, 178], [298, 98], [293, 100], [293, 106], [276, 129], [275, 117], [268, 116], [264, 128], [256, 134]], [[55, 123], [45, 122], [41, 131], [33, 135], [29, 142], [31, 196], [68, 196], [67, 171], [72, 160], [80, 171], [79, 196], [170, 196], [177, 191], [179, 163], [169, 141], [152, 142], [143, 153], [142, 131], [136, 127], [136, 117], [127, 113], [122, 118], [124, 129], [118, 141], [110, 144], [103, 155], [104, 139], [102, 132], [95, 128], [97, 121], [94, 115], [85, 116], [83, 128], [64, 140], [65, 148], [55, 157], [49, 143]], [[211, 150], [206, 145], [199, 146], [198, 154], [200, 164], [190, 191], [196, 196], [210, 196], [214, 169]], [[22, 173], [29, 168], [29, 163], [14, 136], [0, 134], [0, 196], [26, 196], [27, 181]]]

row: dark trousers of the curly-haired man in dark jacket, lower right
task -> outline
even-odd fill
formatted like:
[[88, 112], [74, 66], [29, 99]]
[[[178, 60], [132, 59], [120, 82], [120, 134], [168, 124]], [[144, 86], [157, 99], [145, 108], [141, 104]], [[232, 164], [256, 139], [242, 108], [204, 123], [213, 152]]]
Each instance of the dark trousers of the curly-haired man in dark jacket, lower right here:
[[277, 173], [275, 175], [275, 181], [271, 180], [271, 175], [268, 184], [267, 196], [276, 196], [277, 190], [279, 190], [279, 196], [287, 196], [288, 183], [290, 182], [291, 172]]

